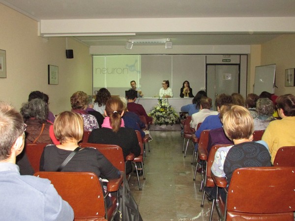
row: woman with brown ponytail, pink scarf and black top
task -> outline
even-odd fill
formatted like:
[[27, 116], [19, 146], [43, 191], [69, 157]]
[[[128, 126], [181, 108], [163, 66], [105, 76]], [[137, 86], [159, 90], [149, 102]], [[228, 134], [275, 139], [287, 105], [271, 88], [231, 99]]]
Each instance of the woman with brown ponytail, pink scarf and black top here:
[[[137, 157], [141, 149], [138, 144], [136, 133], [131, 128], [124, 127], [121, 118], [124, 114], [123, 103], [118, 97], [110, 98], [104, 111], [105, 119], [102, 128], [94, 129], [88, 139], [89, 143], [115, 144], [122, 148], [124, 158], [130, 153]], [[126, 174], [132, 171], [131, 162], [126, 164]]]

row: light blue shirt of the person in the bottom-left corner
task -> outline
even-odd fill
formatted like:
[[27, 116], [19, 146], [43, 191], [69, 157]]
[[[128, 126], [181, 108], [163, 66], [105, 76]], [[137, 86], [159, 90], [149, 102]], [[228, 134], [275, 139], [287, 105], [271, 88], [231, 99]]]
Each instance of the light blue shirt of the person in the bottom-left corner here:
[[15, 164], [0, 163], [0, 195], [0, 220], [74, 220], [72, 207], [48, 179], [21, 176]]

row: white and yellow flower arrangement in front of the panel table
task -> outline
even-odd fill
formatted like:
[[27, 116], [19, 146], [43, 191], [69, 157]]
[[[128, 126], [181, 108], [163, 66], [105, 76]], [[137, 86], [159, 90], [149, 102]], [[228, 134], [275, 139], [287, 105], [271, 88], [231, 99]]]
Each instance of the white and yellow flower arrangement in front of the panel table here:
[[177, 123], [179, 120], [179, 117], [177, 115], [177, 112], [175, 111], [174, 108], [172, 108], [168, 100], [166, 99], [158, 99], [158, 105], [154, 106], [149, 114], [154, 119], [154, 124], [162, 125], [162, 124], [170, 124], [173, 125]]

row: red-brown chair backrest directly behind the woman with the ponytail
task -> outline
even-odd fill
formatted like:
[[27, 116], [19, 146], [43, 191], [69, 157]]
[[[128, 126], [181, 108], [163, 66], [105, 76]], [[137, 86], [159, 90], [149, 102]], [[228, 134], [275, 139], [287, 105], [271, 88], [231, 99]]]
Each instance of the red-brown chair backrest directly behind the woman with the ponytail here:
[[81, 147], [94, 147], [102, 153], [118, 170], [125, 172], [125, 161], [122, 148], [113, 144], [79, 143]]

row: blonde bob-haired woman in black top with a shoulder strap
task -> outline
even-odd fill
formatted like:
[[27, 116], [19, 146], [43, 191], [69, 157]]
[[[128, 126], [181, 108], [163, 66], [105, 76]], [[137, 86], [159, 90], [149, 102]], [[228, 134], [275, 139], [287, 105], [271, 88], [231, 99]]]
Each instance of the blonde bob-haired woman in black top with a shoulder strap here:
[[[98, 150], [90, 147], [79, 150], [78, 142], [82, 140], [83, 132], [83, 118], [79, 113], [71, 111], [59, 113], [54, 123], [54, 133], [60, 140], [60, 144], [47, 145], [44, 148], [40, 159], [40, 171], [59, 171], [59, 166], [67, 157], [73, 151], [77, 151], [60, 171], [93, 172], [98, 178], [118, 179], [120, 171]], [[109, 197], [107, 205], [112, 205]]]

